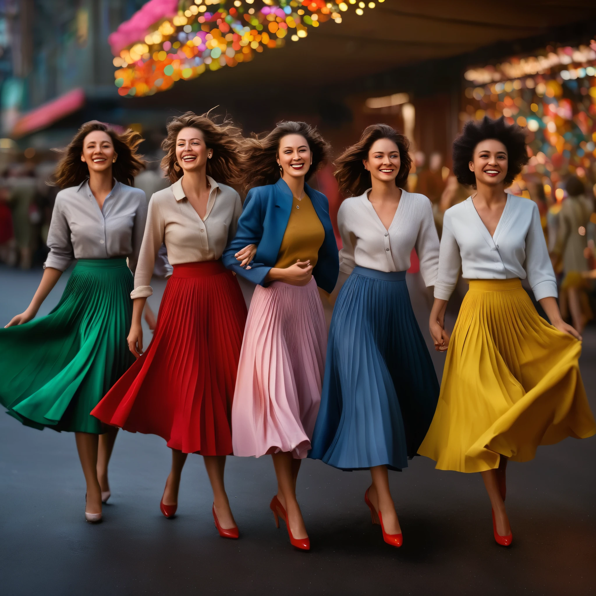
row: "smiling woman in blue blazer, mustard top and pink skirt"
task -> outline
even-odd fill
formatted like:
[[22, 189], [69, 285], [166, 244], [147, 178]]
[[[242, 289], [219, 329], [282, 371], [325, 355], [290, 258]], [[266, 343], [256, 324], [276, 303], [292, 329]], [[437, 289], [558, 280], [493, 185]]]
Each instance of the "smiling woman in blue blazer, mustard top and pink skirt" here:
[[[259, 284], [250, 303], [232, 406], [234, 455], [271, 454], [284, 519], [294, 547], [310, 542], [296, 500], [300, 462], [311, 448], [321, 399], [327, 330], [317, 286], [337, 280], [337, 244], [327, 197], [305, 184], [328, 144], [305, 122], [281, 122], [244, 143], [250, 188], [238, 231], [224, 253], [229, 269]], [[257, 245], [250, 271], [238, 249]], [[278, 524], [279, 527], [279, 524]]]

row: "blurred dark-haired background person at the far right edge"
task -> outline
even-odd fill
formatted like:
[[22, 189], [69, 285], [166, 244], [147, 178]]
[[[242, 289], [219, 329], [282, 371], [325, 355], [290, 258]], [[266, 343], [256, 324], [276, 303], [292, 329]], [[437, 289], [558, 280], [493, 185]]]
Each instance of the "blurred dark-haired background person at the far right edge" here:
[[594, 316], [586, 294], [588, 281], [582, 275], [588, 271], [586, 228], [594, 203], [586, 196], [585, 187], [577, 176], [569, 176], [566, 190], [567, 198], [562, 201], [558, 213], [557, 238], [551, 258], [563, 266], [561, 294], [567, 294], [573, 327], [582, 333], [586, 322]]

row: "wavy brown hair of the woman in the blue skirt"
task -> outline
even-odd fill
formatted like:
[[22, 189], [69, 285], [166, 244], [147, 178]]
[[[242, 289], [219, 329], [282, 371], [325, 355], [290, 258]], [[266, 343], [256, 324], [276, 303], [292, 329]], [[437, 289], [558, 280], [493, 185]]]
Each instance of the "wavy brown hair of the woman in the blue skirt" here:
[[360, 140], [348, 147], [334, 162], [337, 169], [334, 172], [339, 184], [339, 191], [344, 197], [357, 197], [371, 187], [371, 173], [365, 169], [362, 160], [368, 159], [368, 152], [378, 139], [389, 139], [399, 149], [399, 172], [395, 178], [395, 185], [405, 188], [408, 173], [412, 166], [409, 141], [404, 135], [386, 124], [373, 124], [367, 126], [362, 132]]

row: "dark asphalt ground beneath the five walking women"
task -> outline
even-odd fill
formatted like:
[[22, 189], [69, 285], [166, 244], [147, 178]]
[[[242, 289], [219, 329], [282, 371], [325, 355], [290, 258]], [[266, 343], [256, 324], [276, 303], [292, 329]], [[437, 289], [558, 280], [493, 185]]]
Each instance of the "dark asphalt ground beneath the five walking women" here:
[[[60, 280], [40, 311], [58, 302]], [[23, 311], [41, 270], [0, 268], [0, 324]], [[427, 296], [408, 275], [427, 334]], [[150, 302], [157, 311], [163, 281]], [[457, 312], [451, 308], [450, 321]], [[432, 352], [437, 374], [443, 356]], [[1, 357], [1, 355], [0, 355]], [[583, 381], [596, 411], [596, 327], [584, 334]], [[545, 594], [596, 593], [596, 438], [541, 447], [508, 467], [511, 548], [492, 538], [491, 505], [479, 474], [434, 470], [417, 457], [390, 483], [403, 547], [384, 544], [364, 504], [366, 471], [306, 460], [297, 494], [310, 552], [275, 528], [271, 458], [229, 457], [226, 487], [238, 541], [219, 538], [201, 457], [182, 477], [178, 514], [159, 502], [170, 452], [156, 436], [120, 432], [110, 464], [104, 521], [85, 522], [85, 482], [75, 437], [39, 432], [0, 415], [0, 594]]]

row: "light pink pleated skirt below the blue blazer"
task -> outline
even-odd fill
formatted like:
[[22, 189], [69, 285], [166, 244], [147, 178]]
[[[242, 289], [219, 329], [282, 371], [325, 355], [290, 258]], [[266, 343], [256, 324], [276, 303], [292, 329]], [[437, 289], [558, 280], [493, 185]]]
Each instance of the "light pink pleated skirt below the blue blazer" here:
[[257, 285], [232, 405], [234, 455], [306, 457], [321, 402], [327, 326], [316, 282]]

